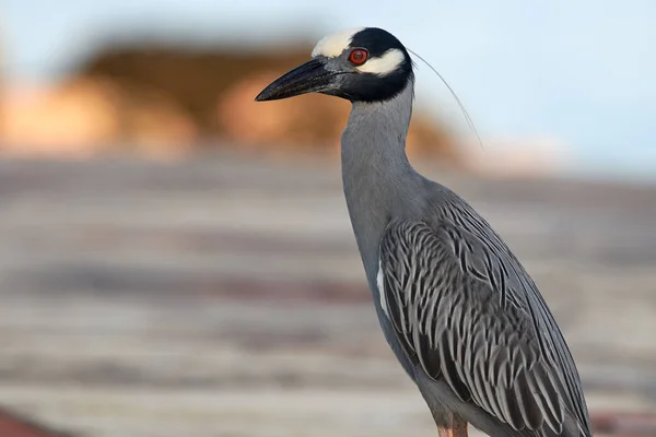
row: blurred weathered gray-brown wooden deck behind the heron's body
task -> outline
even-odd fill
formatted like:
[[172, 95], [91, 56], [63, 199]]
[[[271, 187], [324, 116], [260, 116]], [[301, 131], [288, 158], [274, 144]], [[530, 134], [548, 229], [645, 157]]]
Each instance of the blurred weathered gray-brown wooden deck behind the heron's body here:
[[[429, 175], [507, 239], [590, 410], [656, 412], [656, 189]], [[0, 404], [82, 436], [432, 436], [337, 163], [0, 162]]]

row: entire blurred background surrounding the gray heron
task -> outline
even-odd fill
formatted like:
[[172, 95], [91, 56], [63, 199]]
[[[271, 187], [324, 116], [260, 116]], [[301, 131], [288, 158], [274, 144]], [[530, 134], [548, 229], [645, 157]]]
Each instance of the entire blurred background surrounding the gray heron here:
[[412, 163], [531, 273], [596, 435], [656, 435], [656, 3], [0, 2], [0, 436], [429, 436], [341, 193], [324, 35], [418, 63]]

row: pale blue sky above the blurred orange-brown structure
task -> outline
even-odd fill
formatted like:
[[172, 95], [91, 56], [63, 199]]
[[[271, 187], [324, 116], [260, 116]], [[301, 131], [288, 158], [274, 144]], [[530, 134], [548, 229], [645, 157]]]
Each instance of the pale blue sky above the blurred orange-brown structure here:
[[[551, 137], [576, 172], [656, 179], [656, 2], [649, 0], [0, 0], [10, 78], [54, 80], [134, 33], [214, 44], [384, 27], [433, 63], [483, 137]], [[455, 118], [427, 68], [418, 103]]]

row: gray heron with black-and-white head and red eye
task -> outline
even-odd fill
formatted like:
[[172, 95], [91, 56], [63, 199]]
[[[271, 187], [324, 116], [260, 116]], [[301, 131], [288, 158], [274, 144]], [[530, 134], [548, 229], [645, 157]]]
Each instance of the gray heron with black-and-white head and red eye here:
[[351, 102], [342, 184], [379, 324], [440, 436], [589, 437], [578, 370], [536, 283], [464, 198], [406, 154], [414, 64], [389, 32], [319, 40], [256, 102]]

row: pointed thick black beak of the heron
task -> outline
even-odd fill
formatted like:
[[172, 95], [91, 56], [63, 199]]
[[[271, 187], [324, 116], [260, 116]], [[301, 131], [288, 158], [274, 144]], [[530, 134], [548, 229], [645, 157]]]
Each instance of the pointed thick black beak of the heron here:
[[255, 97], [256, 102], [278, 101], [328, 88], [333, 72], [318, 59], [313, 59], [278, 78]]

